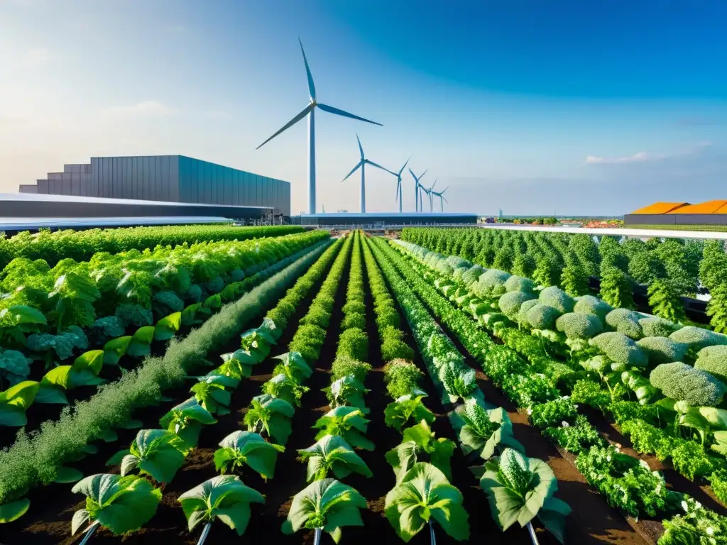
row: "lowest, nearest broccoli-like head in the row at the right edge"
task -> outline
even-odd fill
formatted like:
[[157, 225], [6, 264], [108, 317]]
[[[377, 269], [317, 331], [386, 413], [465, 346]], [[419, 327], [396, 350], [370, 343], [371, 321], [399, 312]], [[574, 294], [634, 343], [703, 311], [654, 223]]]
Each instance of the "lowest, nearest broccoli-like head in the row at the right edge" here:
[[691, 407], [715, 407], [722, 401], [727, 387], [706, 371], [681, 362], [662, 363], [649, 375], [651, 384], [666, 397], [686, 401]]

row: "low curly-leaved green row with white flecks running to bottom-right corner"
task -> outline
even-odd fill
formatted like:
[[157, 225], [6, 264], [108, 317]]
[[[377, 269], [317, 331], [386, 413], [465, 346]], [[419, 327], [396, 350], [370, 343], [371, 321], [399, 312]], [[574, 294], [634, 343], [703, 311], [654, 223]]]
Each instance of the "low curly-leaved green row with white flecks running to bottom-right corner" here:
[[[387, 251], [393, 250], [387, 249]], [[433, 255], [427, 257], [426, 253], [421, 251], [417, 251], [417, 254], [419, 257], [424, 255], [423, 259], [429, 263], [443, 263], [446, 260], [444, 257], [439, 259]], [[449, 258], [449, 266], [454, 267], [455, 261], [455, 258]], [[461, 261], [460, 259], [459, 262]], [[498, 335], [502, 334], [502, 339], [506, 343], [516, 344], [521, 352], [529, 350], [531, 353], [536, 352], [534, 347], [538, 345], [542, 348], [541, 343], [545, 342], [545, 338], [549, 336], [547, 334], [539, 337], [523, 336], [523, 334], [518, 334], [517, 329], [506, 329], [507, 324], [499, 321], [492, 312], [483, 312], [486, 300], [478, 299], [474, 294], [464, 293], [466, 290], [454, 286], [454, 278], [460, 279], [461, 286], [465, 286], [471, 277], [477, 278], [480, 283], [493, 285], [494, 274], [483, 280], [486, 273], [481, 270], [475, 270], [470, 275], [467, 274], [468, 270], [473, 269], [471, 264], [470, 267], [465, 265], [465, 267], [456, 268], [463, 270], [457, 274], [425, 273], [429, 283], [418, 278], [417, 290], [420, 293], [430, 294], [430, 301], [427, 302], [430, 302], [439, 318], [447, 323], [451, 331], [457, 333], [467, 350], [481, 361], [483, 369], [490, 379], [501, 387], [511, 399], [515, 400], [515, 403], [531, 409], [533, 423], [544, 428], [544, 434], [553, 438], [561, 447], [579, 452], [576, 461], [577, 467], [584, 473], [587, 480], [606, 496], [611, 505], [618, 507], [626, 514], [658, 517], [659, 519], [667, 518], [682, 509], [686, 510], [687, 513], [683, 516], [676, 515], [671, 520], [664, 522], [664, 525], [670, 530], [664, 534], [661, 543], [674, 542], [670, 541], [675, 538], [677, 532], [674, 528], [686, 527], [691, 528], [690, 531], [700, 528], [699, 531], [705, 532], [707, 527], [713, 527], [713, 529], [726, 527], [723, 517], [701, 508], [688, 496], [667, 489], [664, 478], [658, 472], [651, 472], [648, 467], [643, 467], [637, 459], [619, 453], [617, 447], [606, 446], [593, 426], [586, 419], [577, 416], [574, 403], [578, 399], [578, 392], [574, 391], [573, 397], [569, 399], [559, 397], [560, 392], [556, 388], [556, 385], [563, 388], [569, 384], [569, 380], [579, 379], [576, 371], [557, 361], [547, 365], [550, 358], [545, 357], [542, 350], [537, 353], [537, 357], [530, 358], [528, 365], [518, 357], [512, 348], [497, 346], [489, 338], [483, 336], [481, 331], [476, 331], [478, 323], [485, 327], [487, 324], [491, 324], [493, 331]], [[404, 269], [411, 273], [409, 267], [402, 267], [402, 270]], [[414, 281], [416, 277], [417, 275], [414, 274], [409, 279]], [[522, 286], [522, 280], [520, 277], [513, 277], [513, 280], [510, 280], [510, 286], [515, 284]], [[436, 290], [430, 284], [438, 286], [446, 297], [438, 296], [439, 301], [437, 301]], [[470, 282], [471, 285], [472, 282]], [[494, 282], [494, 285], [497, 285], [497, 282]], [[550, 291], [543, 290], [541, 294], [545, 294], [545, 298], [555, 296], [553, 288], [548, 289]], [[511, 297], [515, 296], [505, 297], [505, 301], [500, 300], [506, 303]], [[478, 323], [466, 318], [467, 314], [457, 310], [450, 301], [467, 309], [467, 313], [475, 316]], [[591, 302], [590, 299], [586, 299], [586, 301]], [[527, 310], [527, 312], [531, 312], [531, 310]], [[496, 323], [500, 325], [495, 325]], [[533, 339], [533, 342], [529, 342], [529, 339]], [[536, 339], [537, 342], [535, 342]], [[523, 349], [526, 346], [530, 348]], [[633, 409], [640, 405], [632, 403], [628, 406]], [[561, 426], [558, 426], [558, 422], [561, 422]], [[691, 542], [694, 541], [687, 541], [687, 543]]]

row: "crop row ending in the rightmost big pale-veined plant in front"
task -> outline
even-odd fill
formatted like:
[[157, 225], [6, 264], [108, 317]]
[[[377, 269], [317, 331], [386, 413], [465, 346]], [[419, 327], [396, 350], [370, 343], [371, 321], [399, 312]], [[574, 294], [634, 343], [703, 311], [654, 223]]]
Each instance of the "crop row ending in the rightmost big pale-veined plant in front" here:
[[[537, 516], [548, 530], [563, 541], [565, 518], [571, 509], [554, 496], [558, 485], [553, 471], [544, 461], [524, 455], [522, 445], [512, 435], [512, 424], [507, 413], [484, 400], [475, 382], [475, 371], [466, 366], [451, 339], [414, 294], [411, 279], [404, 280], [401, 271], [397, 272], [398, 267], [386, 255], [386, 243], [377, 240], [372, 246], [374, 256], [406, 314], [430, 378], [444, 401], [456, 403], [449, 418], [457, 432], [462, 452], [468, 456], [470, 464], [484, 462], [483, 467], [472, 469], [480, 478], [480, 485], [488, 496], [497, 525], [507, 530], [518, 522], [523, 528], [529, 528], [531, 536], [534, 536], [531, 520]], [[461, 403], [458, 403], [459, 400]], [[425, 424], [426, 421], [423, 421], [419, 426], [425, 427]], [[429, 445], [431, 464], [443, 469], [443, 477], [446, 477], [452, 447], [447, 446], [443, 439], [437, 443]], [[451, 493], [449, 497], [452, 497]], [[454, 497], [461, 498], [461, 495]], [[526, 498], [529, 500], [526, 501]], [[395, 499], [392, 498], [392, 501]], [[400, 507], [399, 512], [403, 513], [404, 510]], [[451, 520], [442, 516], [435, 517], [435, 520], [450, 536], [466, 539], [469, 531], [464, 509], [449, 505], [449, 515]], [[446, 524], [443, 524], [443, 520], [446, 520]]]

